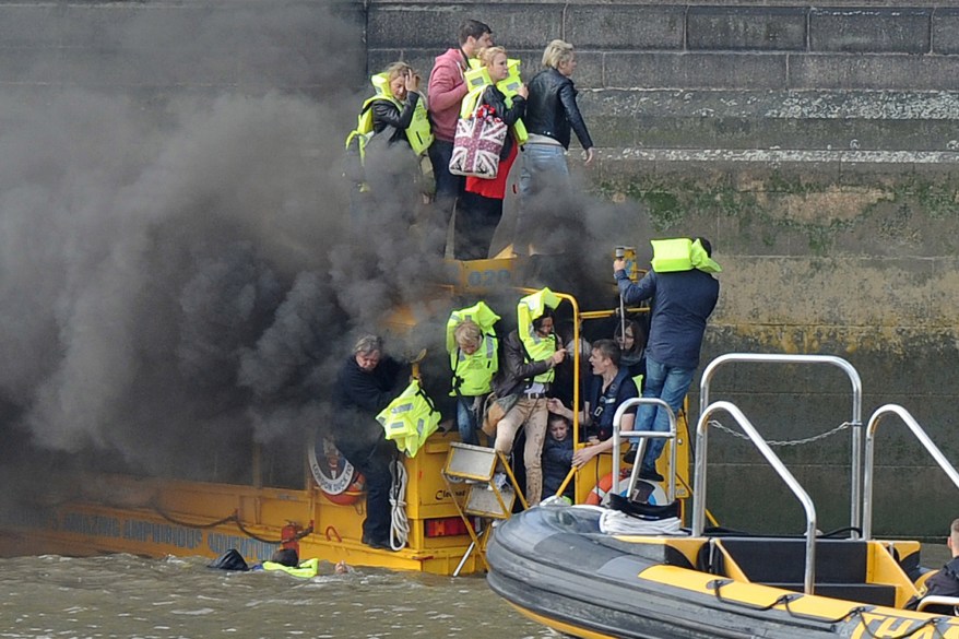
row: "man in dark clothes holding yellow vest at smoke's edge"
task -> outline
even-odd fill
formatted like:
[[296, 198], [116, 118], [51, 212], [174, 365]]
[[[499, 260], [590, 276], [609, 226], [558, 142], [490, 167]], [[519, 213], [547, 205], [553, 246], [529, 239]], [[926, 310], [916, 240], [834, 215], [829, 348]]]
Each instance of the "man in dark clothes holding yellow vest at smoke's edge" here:
[[333, 392], [333, 439], [366, 480], [363, 543], [374, 548], [390, 549], [390, 462], [396, 452], [376, 416], [400, 394], [404, 368], [383, 354], [381, 338], [363, 335], [340, 368]]

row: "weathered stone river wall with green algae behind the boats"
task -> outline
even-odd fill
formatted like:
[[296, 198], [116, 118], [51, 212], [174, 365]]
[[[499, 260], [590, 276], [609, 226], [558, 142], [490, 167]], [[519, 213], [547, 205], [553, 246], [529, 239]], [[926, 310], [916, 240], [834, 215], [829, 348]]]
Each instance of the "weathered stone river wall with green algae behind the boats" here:
[[[93, 87], [162, 109], [171, 96], [279, 90], [325, 104], [396, 58], [428, 72], [465, 17], [493, 25], [528, 75], [565, 38], [600, 151], [588, 173], [571, 158], [599, 200], [632, 215], [624, 241], [713, 239], [725, 271], [705, 359], [846, 357], [866, 416], [902, 403], [959, 463], [959, 4], [862, 4], [0, 2], [0, 92]], [[773, 439], [850, 414], [834, 371], [735, 367], [720, 397]], [[955, 492], [903, 433], [883, 428], [877, 531], [942, 534]], [[821, 528], [848, 520], [848, 440], [779, 449], [814, 488]], [[710, 508], [723, 523], [797, 530], [801, 509], [758, 455], [717, 433], [720, 450]], [[769, 499], [753, 497], [760, 485]]]

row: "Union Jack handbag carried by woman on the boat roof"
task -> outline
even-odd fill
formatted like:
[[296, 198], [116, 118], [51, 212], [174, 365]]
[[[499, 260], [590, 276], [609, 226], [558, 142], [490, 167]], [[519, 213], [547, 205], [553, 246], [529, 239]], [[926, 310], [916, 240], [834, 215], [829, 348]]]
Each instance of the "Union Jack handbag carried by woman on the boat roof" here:
[[494, 179], [499, 171], [499, 153], [509, 127], [496, 117], [488, 105], [457, 121], [450, 173]]

